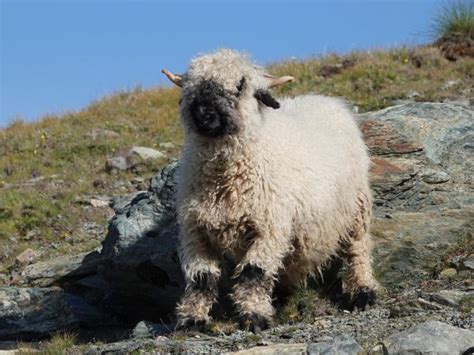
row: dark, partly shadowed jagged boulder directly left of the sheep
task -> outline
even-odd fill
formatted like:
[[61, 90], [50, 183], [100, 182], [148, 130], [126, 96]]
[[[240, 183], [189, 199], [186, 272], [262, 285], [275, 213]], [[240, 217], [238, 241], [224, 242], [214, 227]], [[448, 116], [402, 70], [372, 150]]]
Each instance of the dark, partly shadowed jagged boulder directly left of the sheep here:
[[119, 204], [103, 242], [101, 274], [106, 305], [130, 320], [159, 320], [174, 309], [184, 284], [176, 251], [174, 174], [166, 166], [148, 192]]

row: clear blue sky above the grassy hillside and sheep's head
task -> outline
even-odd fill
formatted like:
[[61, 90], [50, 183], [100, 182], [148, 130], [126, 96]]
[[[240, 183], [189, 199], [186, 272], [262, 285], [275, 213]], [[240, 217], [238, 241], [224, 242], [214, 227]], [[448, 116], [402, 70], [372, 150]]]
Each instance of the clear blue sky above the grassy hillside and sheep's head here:
[[168, 85], [201, 52], [260, 64], [429, 41], [439, 0], [0, 0], [0, 126]]

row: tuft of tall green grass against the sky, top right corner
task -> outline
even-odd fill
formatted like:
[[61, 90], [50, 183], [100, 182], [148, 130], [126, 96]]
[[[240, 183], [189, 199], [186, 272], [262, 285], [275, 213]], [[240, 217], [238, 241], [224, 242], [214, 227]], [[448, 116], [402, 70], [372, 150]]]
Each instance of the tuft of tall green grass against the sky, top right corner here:
[[434, 18], [433, 34], [436, 39], [455, 34], [474, 38], [474, 2], [472, 0], [445, 2]]

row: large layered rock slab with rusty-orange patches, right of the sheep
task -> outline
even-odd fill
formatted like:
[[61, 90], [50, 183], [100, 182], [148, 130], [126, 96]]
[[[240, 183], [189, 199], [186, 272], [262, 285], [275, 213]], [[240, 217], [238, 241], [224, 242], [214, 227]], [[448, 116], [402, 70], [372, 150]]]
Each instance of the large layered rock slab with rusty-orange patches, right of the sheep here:
[[472, 107], [410, 103], [359, 121], [372, 154], [377, 275], [389, 287], [416, 284], [473, 235]]

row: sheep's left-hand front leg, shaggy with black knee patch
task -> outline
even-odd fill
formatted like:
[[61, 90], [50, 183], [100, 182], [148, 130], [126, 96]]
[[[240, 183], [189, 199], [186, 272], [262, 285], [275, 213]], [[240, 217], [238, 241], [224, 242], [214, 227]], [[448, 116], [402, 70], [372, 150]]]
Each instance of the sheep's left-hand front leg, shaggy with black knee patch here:
[[202, 330], [218, 295], [220, 269], [217, 260], [200, 245], [201, 238], [181, 237], [180, 259], [186, 289], [177, 308], [177, 329]]

